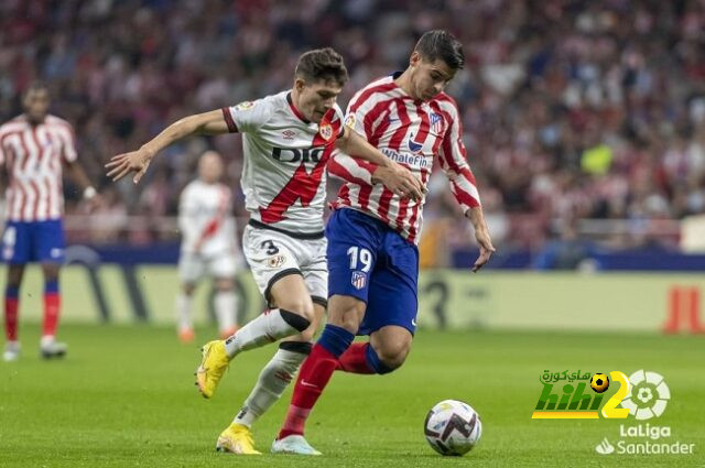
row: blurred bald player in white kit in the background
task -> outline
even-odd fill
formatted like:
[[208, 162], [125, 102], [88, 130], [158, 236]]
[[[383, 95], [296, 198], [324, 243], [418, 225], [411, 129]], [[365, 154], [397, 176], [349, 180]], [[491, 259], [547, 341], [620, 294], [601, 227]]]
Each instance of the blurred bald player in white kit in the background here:
[[178, 227], [182, 232], [178, 275], [181, 294], [176, 297], [178, 337], [194, 339], [193, 294], [197, 282], [207, 275], [215, 281], [214, 298], [218, 331], [227, 338], [237, 330], [235, 274], [239, 259], [230, 188], [221, 184], [223, 160], [206, 151], [198, 161], [198, 178], [181, 194]]

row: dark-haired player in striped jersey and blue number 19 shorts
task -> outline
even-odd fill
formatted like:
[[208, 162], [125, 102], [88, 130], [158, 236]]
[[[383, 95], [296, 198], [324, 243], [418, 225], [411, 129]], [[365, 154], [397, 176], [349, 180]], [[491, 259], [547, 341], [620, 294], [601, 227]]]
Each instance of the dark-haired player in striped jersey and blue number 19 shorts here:
[[[467, 163], [460, 116], [445, 86], [464, 65], [460, 43], [447, 32], [420, 39], [403, 73], [371, 83], [348, 106], [346, 126], [421, 178], [434, 161], [451, 181], [475, 227], [478, 271], [495, 251]], [[346, 152], [355, 154], [354, 152]], [[416, 328], [419, 239], [423, 200], [401, 199], [375, 186], [375, 165], [347, 154], [329, 171], [345, 184], [326, 227], [328, 319], [304, 362], [274, 453], [318, 455], [303, 437], [304, 425], [335, 370], [388, 373], [406, 358]], [[352, 344], [356, 335], [369, 342]]]

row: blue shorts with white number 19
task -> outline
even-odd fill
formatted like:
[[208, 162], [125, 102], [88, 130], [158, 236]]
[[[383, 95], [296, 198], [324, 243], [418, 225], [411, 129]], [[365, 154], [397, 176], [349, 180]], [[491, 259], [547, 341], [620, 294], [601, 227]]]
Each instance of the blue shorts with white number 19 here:
[[387, 325], [416, 330], [419, 249], [382, 221], [350, 208], [337, 209], [326, 226], [328, 297], [367, 303], [358, 335]]

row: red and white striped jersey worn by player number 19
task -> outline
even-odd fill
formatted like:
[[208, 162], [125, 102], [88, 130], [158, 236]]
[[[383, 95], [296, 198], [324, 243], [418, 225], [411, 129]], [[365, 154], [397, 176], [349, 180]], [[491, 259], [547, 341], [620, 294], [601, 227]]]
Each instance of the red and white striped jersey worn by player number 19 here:
[[[437, 159], [463, 210], [480, 205], [463, 144], [458, 109], [445, 92], [430, 101], [416, 101], [397, 86], [394, 76], [388, 76], [372, 81], [352, 97], [345, 124], [365, 135], [388, 157], [409, 167], [424, 186]], [[375, 168], [371, 163], [336, 152], [328, 171], [345, 184], [333, 206], [364, 211], [410, 242], [417, 242], [425, 199], [401, 199], [383, 185], [372, 184]]]

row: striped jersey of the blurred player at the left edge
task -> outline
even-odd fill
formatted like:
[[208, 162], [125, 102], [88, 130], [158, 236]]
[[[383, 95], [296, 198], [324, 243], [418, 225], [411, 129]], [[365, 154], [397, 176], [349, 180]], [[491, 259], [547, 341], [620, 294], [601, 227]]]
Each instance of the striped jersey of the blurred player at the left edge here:
[[32, 126], [24, 116], [0, 127], [0, 164], [7, 165], [7, 219], [45, 221], [64, 210], [62, 163], [76, 161], [70, 124], [54, 116]]

